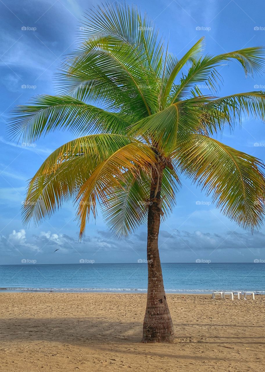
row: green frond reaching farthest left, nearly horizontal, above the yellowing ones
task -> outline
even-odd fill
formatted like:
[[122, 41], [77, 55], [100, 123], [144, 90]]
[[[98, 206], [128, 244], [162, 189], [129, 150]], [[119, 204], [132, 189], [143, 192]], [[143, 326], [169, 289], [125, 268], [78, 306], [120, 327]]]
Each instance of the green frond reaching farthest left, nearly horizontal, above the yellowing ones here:
[[12, 113], [10, 135], [29, 143], [58, 129], [74, 135], [91, 131], [119, 134], [125, 133], [130, 125], [129, 116], [87, 105], [70, 96], [37, 96], [31, 105], [17, 106]]

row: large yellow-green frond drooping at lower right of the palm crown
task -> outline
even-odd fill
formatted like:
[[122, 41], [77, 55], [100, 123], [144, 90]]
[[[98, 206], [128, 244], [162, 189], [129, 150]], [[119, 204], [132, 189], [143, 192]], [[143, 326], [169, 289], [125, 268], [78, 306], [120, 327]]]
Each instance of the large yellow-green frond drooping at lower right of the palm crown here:
[[265, 215], [264, 164], [213, 138], [193, 134], [176, 155], [183, 173], [212, 195], [224, 215], [241, 227], [261, 227]]

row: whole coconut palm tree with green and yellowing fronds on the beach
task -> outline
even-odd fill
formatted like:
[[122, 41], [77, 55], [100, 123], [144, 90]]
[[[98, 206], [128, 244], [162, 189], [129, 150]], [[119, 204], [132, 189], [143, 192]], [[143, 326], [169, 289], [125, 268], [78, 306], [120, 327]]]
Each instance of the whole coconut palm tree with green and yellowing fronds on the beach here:
[[[161, 219], [174, 206], [179, 175], [190, 177], [241, 227], [253, 231], [263, 221], [263, 163], [214, 137], [242, 115], [264, 120], [265, 94], [213, 94], [221, 82], [218, 66], [236, 60], [246, 75], [260, 73], [264, 50], [202, 55], [200, 39], [178, 60], [153, 22], [126, 4], [91, 10], [80, 29], [77, 49], [62, 64], [58, 95], [37, 96], [13, 112], [10, 133], [23, 142], [59, 129], [82, 136], [39, 168], [23, 219], [38, 223], [74, 200], [80, 238], [97, 204], [118, 237], [147, 222], [143, 342], [173, 341], [158, 235]], [[201, 83], [209, 87], [207, 96]]]

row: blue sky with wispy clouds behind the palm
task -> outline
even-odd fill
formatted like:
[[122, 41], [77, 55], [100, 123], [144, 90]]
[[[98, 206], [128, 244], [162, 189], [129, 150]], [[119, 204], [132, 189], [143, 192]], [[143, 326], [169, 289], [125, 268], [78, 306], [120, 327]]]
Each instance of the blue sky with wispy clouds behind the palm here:
[[[42, 161], [61, 144], [73, 139], [56, 132], [31, 146], [10, 141], [6, 132], [9, 111], [35, 94], [55, 94], [53, 76], [67, 52], [74, 49], [80, 18], [97, 1], [14, 0], [0, 1], [0, 264], [137, 262], [146, 257], [146, 228], [139, 228], [127, 241], [116, 241], [100, 215], [87, 225], [86, 237], [78, 242], [75, 210], [66, 204], [39, 227], [22, 225], [20, 208], [27, 180]], [[221, 54], [244, 47], [265, 45], [265, 3], [262, 0], [137, 1], [142, 12], [156, 21], [169, 39], [169, 50], [178, 57], [201, 36], [205, 52]], [[224, 86], [220, 95], [265, 90], [265, 76], [245, 78], [236, 63], [221, 67]], [[204, 90], [207, 93], [207, 90]], [[238, 150], [265, 160], [264, 124], [252, 119], [221, 140]], [[172, 216], [161, 225], [162, 262], [253, 262], [265, 259], [265, 228], [251, 235], [220, 214], [189, 180], [177, 195]], [[199, 203], [198, 203], [199, 202]], [[53, 253], [57, 248], [59, 251]]]

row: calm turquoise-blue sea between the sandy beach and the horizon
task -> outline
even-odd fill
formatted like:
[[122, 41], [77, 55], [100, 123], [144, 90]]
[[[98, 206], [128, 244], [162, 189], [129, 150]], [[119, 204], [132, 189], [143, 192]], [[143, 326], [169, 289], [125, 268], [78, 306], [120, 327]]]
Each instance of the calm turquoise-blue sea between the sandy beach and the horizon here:
[[[163, 263], [166, 292], [265, 294], [265, 263]], [[1, 291], [146, 292], [147, 264], [0, 265]]]

